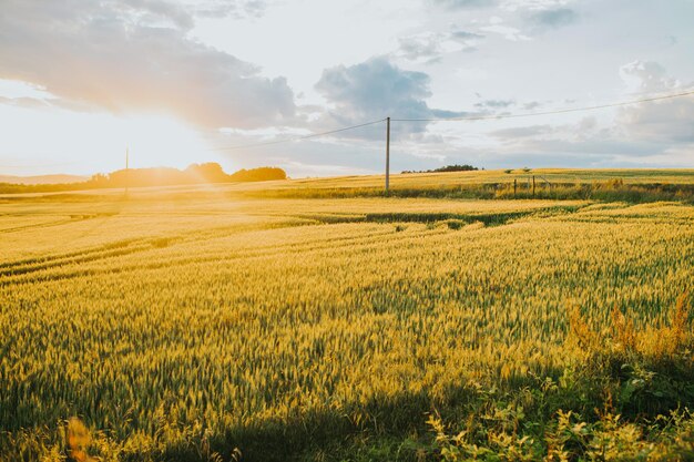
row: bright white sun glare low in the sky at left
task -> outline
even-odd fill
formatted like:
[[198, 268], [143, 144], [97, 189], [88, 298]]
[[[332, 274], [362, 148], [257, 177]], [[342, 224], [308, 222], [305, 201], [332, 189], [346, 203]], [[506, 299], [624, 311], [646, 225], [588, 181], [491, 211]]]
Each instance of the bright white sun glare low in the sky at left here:
[[3, 171], [16, 175], [111, 172], [125, 166], [126, 148], [131, 167], [185, 168], [212, 161], [235, 166], [211, 152], [200, 131], [167, 114], [74, 112], [55, 103], [48, 107], [0, 105], [0, 124], [12, 122], [19, 127], [3, 133]]

